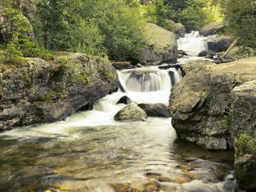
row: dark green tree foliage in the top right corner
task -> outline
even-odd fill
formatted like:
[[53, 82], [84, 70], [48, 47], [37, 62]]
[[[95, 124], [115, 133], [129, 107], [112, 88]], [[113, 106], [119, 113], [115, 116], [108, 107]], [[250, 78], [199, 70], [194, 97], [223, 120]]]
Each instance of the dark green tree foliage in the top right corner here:
[[234, 0], [228, 2], [226, 20], [228, 32], [239, 38], [240, 44], [256, 48], [256, 2]]

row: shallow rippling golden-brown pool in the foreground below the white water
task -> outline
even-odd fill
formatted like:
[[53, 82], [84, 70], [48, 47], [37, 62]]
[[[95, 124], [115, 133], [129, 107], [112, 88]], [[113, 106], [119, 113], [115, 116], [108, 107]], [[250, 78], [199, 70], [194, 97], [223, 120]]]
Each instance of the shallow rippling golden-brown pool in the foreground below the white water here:
[[70, 127], [48, 138], [2, 136], [0, 190], [234, 191], [233, 154], [174, 144], [169, 125], [170, 119], [150, 118]]

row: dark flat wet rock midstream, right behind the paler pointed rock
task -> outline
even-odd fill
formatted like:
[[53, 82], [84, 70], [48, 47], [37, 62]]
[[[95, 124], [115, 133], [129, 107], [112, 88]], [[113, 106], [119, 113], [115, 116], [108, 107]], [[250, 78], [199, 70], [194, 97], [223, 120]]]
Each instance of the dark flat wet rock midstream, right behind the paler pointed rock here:
[[150, 117], [162, 117], [162, 118], [170, 118], [170, 114], [168, 113], [167, 106], [162, 103], [156, 104], [138, 104], [142, 110], [146, 112], [146, 114]]

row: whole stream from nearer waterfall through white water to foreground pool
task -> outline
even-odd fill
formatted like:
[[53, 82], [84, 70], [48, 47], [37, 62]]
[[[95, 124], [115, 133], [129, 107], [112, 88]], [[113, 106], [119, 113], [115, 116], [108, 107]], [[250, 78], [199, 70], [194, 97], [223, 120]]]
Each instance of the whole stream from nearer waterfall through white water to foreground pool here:
[[179, 70], [146, 67], [118, 76], [122, 91], [94, 110], [0, 134], [0, 191], [235, 191], [232, 152], [177, 141], [170, 118], [114, 121], [124, 95], [168, 105]]

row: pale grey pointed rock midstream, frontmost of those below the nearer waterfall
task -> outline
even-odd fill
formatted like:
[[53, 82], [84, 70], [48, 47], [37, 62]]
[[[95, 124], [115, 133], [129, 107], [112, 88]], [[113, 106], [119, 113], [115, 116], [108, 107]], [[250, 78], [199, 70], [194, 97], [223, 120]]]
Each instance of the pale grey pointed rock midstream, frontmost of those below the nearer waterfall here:
[[132, 103], [114, 115], [115, 121], [145, 121], [147, 114], [142, 108]]

